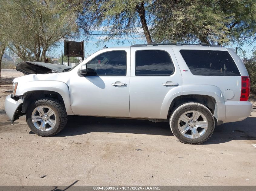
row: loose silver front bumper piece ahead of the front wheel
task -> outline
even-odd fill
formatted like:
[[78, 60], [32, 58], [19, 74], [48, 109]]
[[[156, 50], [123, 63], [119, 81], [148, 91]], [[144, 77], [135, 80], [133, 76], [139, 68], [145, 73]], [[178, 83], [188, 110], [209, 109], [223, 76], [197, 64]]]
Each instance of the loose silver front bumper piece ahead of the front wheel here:
[[19, 103], [18, 101], [12, 99], [11, 94], [6, 96], [5, 98], [5, 112], [12, 123], [14, 121], [15, 113], [18, 110], [20, 104], [21, 103]]

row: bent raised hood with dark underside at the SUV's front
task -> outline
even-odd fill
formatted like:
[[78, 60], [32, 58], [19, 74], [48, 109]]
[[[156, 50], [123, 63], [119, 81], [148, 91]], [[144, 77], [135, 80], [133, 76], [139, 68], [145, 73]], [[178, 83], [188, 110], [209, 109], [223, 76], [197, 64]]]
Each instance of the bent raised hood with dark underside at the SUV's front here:
[[71, 66], [50, 64], [45, 62], [23, 61], [17, 64], [16, 70], [24, 74], [48, 74], [52, 72], [67, 72]]

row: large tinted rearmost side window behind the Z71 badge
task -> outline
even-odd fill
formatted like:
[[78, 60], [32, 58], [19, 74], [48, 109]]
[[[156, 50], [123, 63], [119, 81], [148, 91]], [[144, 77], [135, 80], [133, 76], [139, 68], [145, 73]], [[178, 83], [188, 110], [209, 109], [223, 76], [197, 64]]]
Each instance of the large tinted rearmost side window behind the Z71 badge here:
[[193, 75], [241, 76], [228, 51], [180, 50]]

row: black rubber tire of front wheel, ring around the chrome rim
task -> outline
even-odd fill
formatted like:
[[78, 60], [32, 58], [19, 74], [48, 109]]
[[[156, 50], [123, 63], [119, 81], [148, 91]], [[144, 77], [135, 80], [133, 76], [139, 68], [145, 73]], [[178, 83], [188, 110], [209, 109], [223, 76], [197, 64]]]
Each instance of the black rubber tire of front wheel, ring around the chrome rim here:
[[[33, 110], [36, 107], [42, 106], [42, 105], [50, 107], [56, 113], [56, 125], [54, 126], [53, 129], [49, 131], [41, 131], [37, 129], [32, 123], [31, 117], [32, 117]], [[26, 121], [29, 129], [31, 129], [32, 132], [34, 132], [39, 136], [50, 137], [50, 136], [56, 135], [65, 127], [68, 121], [68, 115], [67, 115], [65, 106], [61, 101], [55, 98], [47, 97], [47, 98], [36, 100], [34, 103], [28, 106], [28, 110], [26, 113]]]

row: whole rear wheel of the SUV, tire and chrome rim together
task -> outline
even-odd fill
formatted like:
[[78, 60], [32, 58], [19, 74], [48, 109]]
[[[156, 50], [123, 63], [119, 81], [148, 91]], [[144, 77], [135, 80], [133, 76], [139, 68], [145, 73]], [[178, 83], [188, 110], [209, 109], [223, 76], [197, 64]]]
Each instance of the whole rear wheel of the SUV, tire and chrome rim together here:
[[180, 142], [196, 145], [211, 137], [215, 121], [207, 107], [200, 103], [188, 102], [174, 109], [170, 117], [170, 127]]

